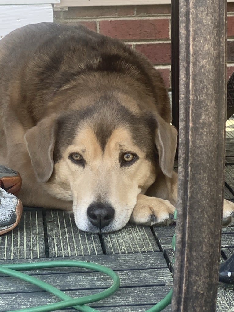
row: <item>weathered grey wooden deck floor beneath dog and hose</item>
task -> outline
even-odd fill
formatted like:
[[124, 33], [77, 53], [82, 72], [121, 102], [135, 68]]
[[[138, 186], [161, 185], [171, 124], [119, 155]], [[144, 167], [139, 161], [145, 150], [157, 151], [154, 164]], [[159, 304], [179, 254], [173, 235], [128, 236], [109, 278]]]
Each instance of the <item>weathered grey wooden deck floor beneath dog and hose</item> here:
[[[234, 201], [234, 119], [227, 121], [226, 163], [225, 198]], [[90, 306], [100, 311], [143, 312], [158, 303], [172, 287], [174, 231], [174, 226], [127, 225], [116, 233], [93, 235], [79, 231], [71, 214], [26, 207], [19, 226], [0, 236], [0, 263], [69, 259], [108, 266], [119, 274], [120, 289], [110, 298]], [[234, 227], [224, 228], [221, 261], [233, 252]], [[82, 269], [39, 270], [29, 274], [72, 297], [93, 294], [110, 286], [105, 276]], [[36, 286], [1, 276], [0, 312], [55, 301], [54, 296]], [[67, 310], [75, 311], [60, 311]], [[170, 306], [164, 311], [170, 311]], [[219, 285], [216, 311], [234, 311], [233, 288]]]

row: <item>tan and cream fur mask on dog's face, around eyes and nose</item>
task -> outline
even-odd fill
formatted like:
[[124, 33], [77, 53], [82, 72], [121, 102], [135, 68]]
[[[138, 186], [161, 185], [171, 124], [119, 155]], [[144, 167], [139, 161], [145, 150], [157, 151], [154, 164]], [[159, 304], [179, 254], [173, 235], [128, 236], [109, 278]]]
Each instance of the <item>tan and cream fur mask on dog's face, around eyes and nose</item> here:
[[[47, 183], [48, 192], [63, 200], [73, 201], [76, 224], [84, 231], [88, 231], [88, 206], [96, 198], [109, 202], [115, 207], [113, 230], [118, 230], [128, 222], [137, 195], [145, 193], [155, 180], [154, 166], [132, 142], [126, 129], [119, 128], [113, 132], [103, 153], [93, 129], [85, 124], [82, 128], [73, 144], [63, 152], [63, 158], [55, 164], [53, 176]], [[120, 149], [130, 149], [140, 158], [137, 166], [125, 170], [125, 174], [118, 165]], [[87, 166], [84, 169], [69, 160], [72, 152], [85, 158]]]

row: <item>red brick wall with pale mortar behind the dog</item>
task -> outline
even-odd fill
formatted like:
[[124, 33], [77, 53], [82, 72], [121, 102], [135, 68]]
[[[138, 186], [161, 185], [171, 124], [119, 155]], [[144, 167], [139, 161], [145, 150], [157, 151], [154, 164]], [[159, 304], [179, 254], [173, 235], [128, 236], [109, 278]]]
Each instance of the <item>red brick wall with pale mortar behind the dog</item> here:
[[[228, 3], [227, 9], [229, 78], [234, 71], [234, 3]], [[124, 40], [152, 61], [170, 89], [170, 12], [170, 5], [69, 7], [68, 11], [54, 11], [54, 18], [59, 23], [81, 23], [101, 34]]]

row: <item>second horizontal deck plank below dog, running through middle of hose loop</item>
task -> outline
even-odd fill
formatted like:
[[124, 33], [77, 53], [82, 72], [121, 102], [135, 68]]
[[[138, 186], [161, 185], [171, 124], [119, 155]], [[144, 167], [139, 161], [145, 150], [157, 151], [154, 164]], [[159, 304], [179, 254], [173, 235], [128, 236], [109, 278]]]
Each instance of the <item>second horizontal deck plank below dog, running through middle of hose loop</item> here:
[[[121, 280], [121, 287], [129, 285], [137, 286], [161, 286], [170, 283], [171, 274], [168, 268], [150, 270], [124, 270], [116, 271]], [[33, 275], [48, 284], [53, 284], [58, 289], [102, 289], [105, 285], [111, 285], [111, 278], [98, 272], [80, 272], [64, 274], [36, 274]], [[1, 277], [0, 294], [41, 291], [39, 287], [17, 280], [10, 276]]]

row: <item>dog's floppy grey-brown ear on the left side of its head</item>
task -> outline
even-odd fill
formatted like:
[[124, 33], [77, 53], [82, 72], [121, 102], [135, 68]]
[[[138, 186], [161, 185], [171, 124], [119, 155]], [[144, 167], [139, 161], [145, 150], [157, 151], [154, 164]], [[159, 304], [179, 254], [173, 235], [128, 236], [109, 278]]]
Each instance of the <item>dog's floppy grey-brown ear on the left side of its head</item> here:
[[55, 119], [45, 118], [27, 130], [25, 142], [39, 182], [46, 182], [54, 169]]

